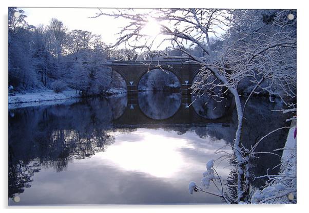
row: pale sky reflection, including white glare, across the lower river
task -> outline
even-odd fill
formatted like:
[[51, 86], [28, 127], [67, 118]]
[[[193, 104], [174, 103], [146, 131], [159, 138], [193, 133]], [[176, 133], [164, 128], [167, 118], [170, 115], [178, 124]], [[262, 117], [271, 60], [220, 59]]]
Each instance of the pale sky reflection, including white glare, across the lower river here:
[[[189, 195], [187, 187], [191, 180], [200, 182], [205, 163], [219, 157], [214, 151], [224, 140], [162, 129], [112, 135], [115, 142], [105, 152], [74, 159], [63, 172], [43, 168], [36, 173], [32, 186], [19, 195], [19, 204], [221, 202], [206, 194]], [[229, 172], [225, 166], [227, 162], [217, 169], [223, 178]]]

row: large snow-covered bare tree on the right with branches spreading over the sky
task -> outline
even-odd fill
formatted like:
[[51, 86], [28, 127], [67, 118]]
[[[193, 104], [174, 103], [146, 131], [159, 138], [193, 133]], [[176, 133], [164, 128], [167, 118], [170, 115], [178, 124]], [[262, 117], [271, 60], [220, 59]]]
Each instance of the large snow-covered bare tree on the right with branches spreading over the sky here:
[[[288, 14], [296, 17], [293, 10], [223, 9], [124, 9], [113, 13], [100, 10], [96, 16], [129, 19], [130, 24], [122, 28], [114, 46], [125, 44], [164, 58], [199, 63], [201, 70], [192, 85], [194, 93], [214, 95], [209, 91], [220, 88], [233, 95], [238, 115], [233, 141], [237, 203], [248, 202], [249, 195], [249, 151], [242, 144], [247, 102], [260, 91], [266, 91], [271, 100], [278, 96], [286, 104], [296, 97], [296, 18], [289, 20]], [[156, 35], [145, 32], [149, 25], [160, 28]], [[182, 55], [158, 51], [166, 44]], [[190, 51], [197, 47], [202, 54]], [[245, 84], [244, 90], [249, 92], [244, 104], [238, 88], [243, 81], [249, 82]]]

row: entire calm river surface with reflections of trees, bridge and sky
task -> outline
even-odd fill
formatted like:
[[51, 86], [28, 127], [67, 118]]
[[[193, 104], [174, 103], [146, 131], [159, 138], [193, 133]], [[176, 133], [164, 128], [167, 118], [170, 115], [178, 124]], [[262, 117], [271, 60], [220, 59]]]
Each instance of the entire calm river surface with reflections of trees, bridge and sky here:
[[[146, 92], [9, 110], [9, 204], [222, 203], [187, 188], [191, 180], [200, 183], [208, 160], [220, 157], [214, 152], [233, 142], [236, 112], [230, 101], [192, 99]], [[246, 147], [289, 125], [288, 115], [272, 111], [282, 108], [280, 101], [250, 100]], [[272, 134], [258, 151], [282, 148], [286, 136], [287, 130]], [[261, 176], [279, 163], [278, 156], [261, 154], [252, 172]], [[226, 180], [232, 167], [223, 161], [216, 169]]]

